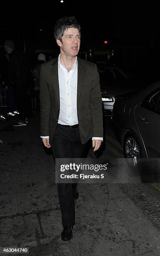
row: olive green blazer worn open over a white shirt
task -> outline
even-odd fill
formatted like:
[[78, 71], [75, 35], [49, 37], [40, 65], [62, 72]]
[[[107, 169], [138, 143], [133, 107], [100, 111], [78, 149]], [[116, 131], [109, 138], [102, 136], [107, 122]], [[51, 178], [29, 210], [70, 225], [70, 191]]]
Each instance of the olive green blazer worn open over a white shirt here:
[[[102, 96], [96, 64], [77, 57], [77, 118], [82, 144], [103, 137]], [[42, 64], [40, 72], [41, 136], [55, 133], [60, 113], [58, 58]]]

